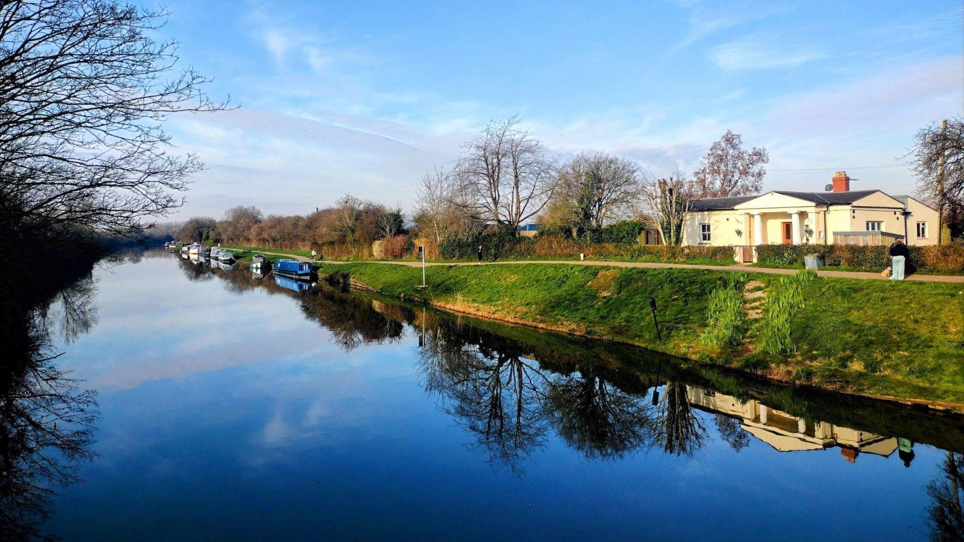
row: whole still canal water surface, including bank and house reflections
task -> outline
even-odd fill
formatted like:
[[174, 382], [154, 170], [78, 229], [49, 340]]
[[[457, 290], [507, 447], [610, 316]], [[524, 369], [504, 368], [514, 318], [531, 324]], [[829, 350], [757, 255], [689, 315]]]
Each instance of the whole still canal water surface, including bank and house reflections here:
[[958, 419], [286, 286], [154, 252], [65, 290], [49, 363], [95, 455], [61, 457], [82, 481], [41, 532], [925, 539], [954, 513]]

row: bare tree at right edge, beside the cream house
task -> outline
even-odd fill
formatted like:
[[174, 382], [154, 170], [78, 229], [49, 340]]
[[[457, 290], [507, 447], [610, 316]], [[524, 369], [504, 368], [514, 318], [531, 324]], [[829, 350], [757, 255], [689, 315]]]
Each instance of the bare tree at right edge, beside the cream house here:
[[[964, 118], [951, 119], [946, 128], [932, 123], [917, 132], [914, 140], [911, 154], [918, 193], [937, 203], [944, 220], [948, 206], [964, 205]], [[943, 237], [939, 231], [938, 238]]]

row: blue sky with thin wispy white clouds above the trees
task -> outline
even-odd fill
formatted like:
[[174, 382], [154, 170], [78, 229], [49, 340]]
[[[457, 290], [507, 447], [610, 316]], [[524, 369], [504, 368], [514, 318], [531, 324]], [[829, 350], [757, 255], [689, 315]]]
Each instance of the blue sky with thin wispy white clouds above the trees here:
[[563, 157], [689, 173], [732, 128], [769, 150], [766, 189], [846, 168], [903, 194], [914, 132], [964, 113], [959, 1], [411, 4], [172, 1], [182, 61], [241, 106], [170, 122], [208, 165], [174, 219], [345, 192], [409, 208], [422, 173], [515, 113]]

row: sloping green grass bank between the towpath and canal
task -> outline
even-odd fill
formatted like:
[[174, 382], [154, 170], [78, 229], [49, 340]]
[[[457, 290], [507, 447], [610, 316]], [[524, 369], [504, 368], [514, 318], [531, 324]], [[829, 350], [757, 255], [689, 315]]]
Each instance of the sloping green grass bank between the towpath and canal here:
[[[798, 384], [964, 405], [960, 285], [520, 263], [429, 267], [421, 289], [417, 267], [359, 262], [318, 272], [443, 309]], [[749, 279], [766, 291], [763, 312], [752, 320], [739, 313]]]

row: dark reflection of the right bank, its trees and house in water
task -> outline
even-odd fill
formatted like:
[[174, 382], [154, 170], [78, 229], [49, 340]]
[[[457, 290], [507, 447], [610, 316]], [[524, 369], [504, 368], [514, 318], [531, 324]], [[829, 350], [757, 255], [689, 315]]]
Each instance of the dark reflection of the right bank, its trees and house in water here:
[[589, 459], [639, 450], [688, 457], [710, 439], [708, 420], [737, 452], [756, 439], [780, 451], [836, 447], [853, 463], [861, 453], [886, 457], [900, 448], [909, 466], [913, 442], [964, 449], [956, 416], [685, 366], [625, 345], [453, 316], [328, 285], [307, 291], [280, 278], [259, 282], [240, 270], [221, 276], [232, 289], [298, 291], [305, 316], [346, 350], [412, 330], [425, 391], [464, 427], [470, 447], [496, 468], [518, 474], [549, 432]]

